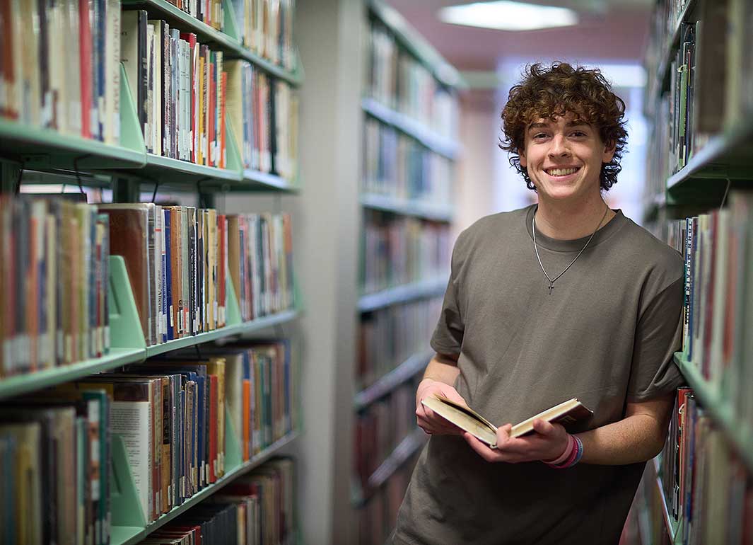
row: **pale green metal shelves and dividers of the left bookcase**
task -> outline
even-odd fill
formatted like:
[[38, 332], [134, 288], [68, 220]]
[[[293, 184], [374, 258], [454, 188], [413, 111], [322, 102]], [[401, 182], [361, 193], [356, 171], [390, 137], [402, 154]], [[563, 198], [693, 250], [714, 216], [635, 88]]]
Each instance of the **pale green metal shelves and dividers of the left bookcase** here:
[[[78, 5], [78, 2], [76, 3]], [[167, 0], [122, 0], [108, 2], [123, 11], [145, 10], [148, 17], [166, 20], [172, 28], [192, 32], [197, 40], [221, 51], [227, 60], [241, 59], [251, 63], [255, 70], [274, 81], [281, 81], [294, 89], [303, 84], [303, 69], [292, 52], [293, 69], [273, 63], [246, 48], [239, 39], [235, 8], [230, 0], [221, 0], [224, 13], [224, 30], [218, 30], [192, 17], [186, 11]], [[186, 4], [187, 5], [187, 4]], [[11, 118], [0, 116], [0, 191], [6, 194], [19, 192], [23, 174], [29, 172], [56, 175], [75, 173], [83, 186], [111, 189], [114, 202], [138, 202], [140, 191], [177, 191], [199, 194], [210, 205], [216, 194], [227, 192], [246, 194], [291, 194], [300, 191], [298, 176], [288, 179], [274, 171], [262, 171], [245, 167], [241, 152], [236, 145], [233, 124], [225, 125], [227, 159], [225, 167], [210, 167], [181, 161], [175, 158], [154, 155], [148, 152], [142, 127], [139, 123], [136, 96], [129, 85], [127, 71], [119, 63], [120, 84], [117, 90], [119, 109], [117, 119], [120, 137], [117, 144], [87, 139], [72, 133], [61, 133], [44, 127], [30, 126]], [[236, 123], [237, 122], [237, 123]], [[239, 127], [240, 128], [240, 127]], [[219, 137], [219, 135], [218, 135]], [[296, 169], [297, 172], [297, 169]], [[95, 177], [96, 176], [96, 177]], [[53, 181], [53, 183], [56, 183]], [[70, 182], [69, 182], [70, 183]], [[255, 197], [252, 197], [255, 198]], [[129, 280], [123, 257], [111, 255], [108, 261], [108, 289], [106, 298], [109, 308], [110, 348], [102, 357], [78, 361], [49, 369], [38, 369], [21, 375], [0, 378], [0, 400], [10, 406], [13, 398], [33, 393], [44, 388], [69, 381], [76, 381], [99, 372], [111, 371], [129, 364], [145, 362], [149, 357], [166, 354], [181, 348], [197, 347], [213, 341], [226, 341], [242, 335], [269, 333], [282, 335], [280, 326], [297, 321], [302, 313], [301, 294], [294, 284], [293, 307], [275, 314], [267, 314], [254, 320], [242, 320], [239, 298], [236, 297], [230, 275], [226, 274], [227, 317], [226, 325], [197, 335], [185, 336], [163, 344], [148, 345], [139, 320], [136, 299]], [[5, 305], [6, 299], [3, 299]], [[297, 365], [297, 363], [294, 363]], [[295, 401], [297, 406], [299, 403]], [[111, 436], [111, 460], [104, 470], [111, 473], [109, 507], [111, 516], [110, 543], [112, 545], [135, 545], [145, 540], [158, 528], [191, 510], [233, 482], [239, 476], [252, 472], [273, 456], [288, 449], [299, 436], [300, 428], [294, 428], [285, 436], [267, 445], [255, 455], [243, 459], [241, 437], [233, 429], [230, 413], [224, 416], [224, 474], [197, 494], [185, 499], [182, 504], [163, 513], [151, 522], [142, 510], [136, 483], [130, 469], [127, 447], [123, 438]], [[300, 426], [300, 415], [294, 420]], [[293, 538], [294, 539], [294, 538]], [[291, 541], [292, 542], [292, 541]]]

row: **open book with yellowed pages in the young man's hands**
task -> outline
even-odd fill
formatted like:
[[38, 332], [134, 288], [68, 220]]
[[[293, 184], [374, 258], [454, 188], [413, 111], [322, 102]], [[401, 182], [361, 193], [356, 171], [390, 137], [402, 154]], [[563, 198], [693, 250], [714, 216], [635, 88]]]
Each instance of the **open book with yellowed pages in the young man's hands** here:
[[[436, 412], [437, 415], [455, 424], [461, 430], [465, 430], [472, 436], [485, 442], [492, 449], [497, 448], [497, 427], [473, 409], [459, 405], [441, 396], [426, 397], [421, 400], [421, 403]], [[510, 436], [520, 437], [526, 435], [526, 433], [531, 433], [533, 431], [533, 421], [536, 418], [567, 425], [583, 418], [589, 418], [591, 415], [593, 415], [593, 411], [574, 397], [572, 400], [559, 403], [559, 405], [542, 411], [538, 415], [520, 422], [520, 424], [515, 424], [510, 432]]]

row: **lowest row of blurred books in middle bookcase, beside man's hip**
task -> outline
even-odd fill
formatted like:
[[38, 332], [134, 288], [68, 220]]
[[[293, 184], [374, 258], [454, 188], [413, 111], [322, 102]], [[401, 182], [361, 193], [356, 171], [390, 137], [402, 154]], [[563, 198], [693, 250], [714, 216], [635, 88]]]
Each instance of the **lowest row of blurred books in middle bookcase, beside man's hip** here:
[[418, 453], [411, 456], [381, 488], [373, 491], [364, 507], [358, 510], [358, 545], [383, 545], [395, 529], [398, 510], [418, 461]]

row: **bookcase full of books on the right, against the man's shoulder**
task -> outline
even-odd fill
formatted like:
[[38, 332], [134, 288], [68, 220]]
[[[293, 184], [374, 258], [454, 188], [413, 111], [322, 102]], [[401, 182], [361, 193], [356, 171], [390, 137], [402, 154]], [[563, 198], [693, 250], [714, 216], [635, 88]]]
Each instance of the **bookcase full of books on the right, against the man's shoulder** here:
[[665, 449], [648, 464], [637, 497], [646, 503], [633, 504], [636, 534], [663, 528], [644, 544], [750, 539], [750, 14], [737, 0], [662, 1], [654, 11], [645, 222], [685, 260], [674, 364], [690, 390], [678, 393]]

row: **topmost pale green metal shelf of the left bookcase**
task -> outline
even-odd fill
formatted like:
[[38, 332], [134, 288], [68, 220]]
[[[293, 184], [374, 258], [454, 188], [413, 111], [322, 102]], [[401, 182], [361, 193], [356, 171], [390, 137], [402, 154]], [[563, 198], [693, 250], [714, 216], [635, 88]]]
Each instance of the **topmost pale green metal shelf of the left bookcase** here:
[[[194, 32], [198, 40], [203, 44], [212, 45], [221, 51], [227, 52], [232, 57], [238, 57], [254, 63], [276, 78], [287, 81], [292, 85], [300, 85], [301, 74], [299, 70], [286, 70], [269, 60], [249, 51], [237, 38], [237, 25], [233, 6], [228, 0], [224, 0], [225, 32], [220, 32], [212, 26], [198, 20], [196, 17], [185, 13], [166, 0], [122, 0], [124, 8], [142, 8], [164, 18], [171, 26], [176, 26], [183, 31]], [[295, 65], [298, 66], [298, 60]]]

